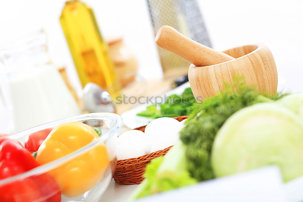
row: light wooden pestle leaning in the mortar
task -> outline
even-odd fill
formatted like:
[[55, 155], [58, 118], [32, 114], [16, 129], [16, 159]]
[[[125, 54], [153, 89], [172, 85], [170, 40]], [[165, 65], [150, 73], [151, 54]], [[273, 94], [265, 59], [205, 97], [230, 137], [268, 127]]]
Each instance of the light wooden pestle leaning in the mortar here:
[[186, 37], [168, 25], [164, 25], [158, 30], [155, 42], [159, 47], [185, 58], [198, 67], [216, 65], [235, 59]]

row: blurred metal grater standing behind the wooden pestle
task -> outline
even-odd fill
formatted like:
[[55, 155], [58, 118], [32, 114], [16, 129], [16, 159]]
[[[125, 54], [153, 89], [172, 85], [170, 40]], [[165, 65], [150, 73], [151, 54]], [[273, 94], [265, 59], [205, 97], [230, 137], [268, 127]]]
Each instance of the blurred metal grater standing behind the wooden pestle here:
[[[162, 25], [170, 25], [189, 38], [211, 47], [196, 0], [147, 0], [154, 34]], [[163, 72], [188, 68], [190, 62], [158, 47]]]

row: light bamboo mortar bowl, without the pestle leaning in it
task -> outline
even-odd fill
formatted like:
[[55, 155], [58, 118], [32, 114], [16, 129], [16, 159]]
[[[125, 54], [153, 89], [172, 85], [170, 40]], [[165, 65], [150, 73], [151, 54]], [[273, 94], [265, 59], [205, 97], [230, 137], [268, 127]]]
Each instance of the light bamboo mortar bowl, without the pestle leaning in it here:
[[243, 76], [248, 86], [261, 93], [275, 94], [278, 73], [274, 57], [264, 44], [239, 46], [222, 51], [235, 59], [204, 67], [189, 66], [188, 80], [197, 101], [224, 90], [224, 83], [233, 84], [235, 75]]

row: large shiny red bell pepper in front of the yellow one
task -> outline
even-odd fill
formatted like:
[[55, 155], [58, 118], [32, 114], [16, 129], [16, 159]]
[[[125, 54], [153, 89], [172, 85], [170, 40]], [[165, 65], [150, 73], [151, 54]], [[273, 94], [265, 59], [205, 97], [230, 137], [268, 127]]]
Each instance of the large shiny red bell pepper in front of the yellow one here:
[[[37, 166], [35, 158], [18, 141], [0, 138], [0, 181]], [[0, 201], [60, 202], [61, 192], [55, 180], [44, 173], [0, 184]]]

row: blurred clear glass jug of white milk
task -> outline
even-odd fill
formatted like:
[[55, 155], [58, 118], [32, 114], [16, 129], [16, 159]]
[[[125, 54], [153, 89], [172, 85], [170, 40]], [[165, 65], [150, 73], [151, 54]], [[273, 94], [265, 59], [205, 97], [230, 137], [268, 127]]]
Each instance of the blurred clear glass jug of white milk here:
[[43, 30], [24, 36], [1, 50], [0, 63], [4, 66], [15, 132], [80, 114], [48, 56]]

